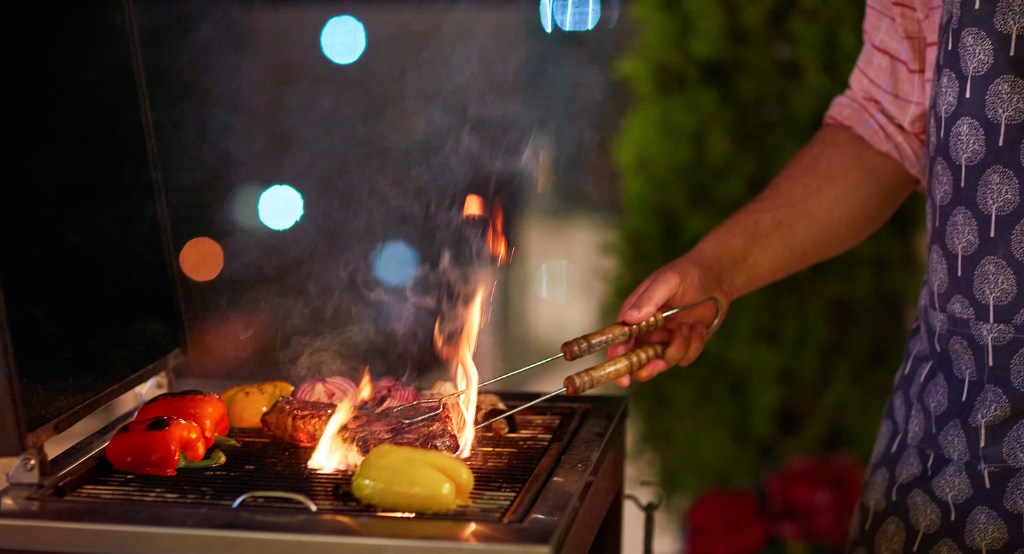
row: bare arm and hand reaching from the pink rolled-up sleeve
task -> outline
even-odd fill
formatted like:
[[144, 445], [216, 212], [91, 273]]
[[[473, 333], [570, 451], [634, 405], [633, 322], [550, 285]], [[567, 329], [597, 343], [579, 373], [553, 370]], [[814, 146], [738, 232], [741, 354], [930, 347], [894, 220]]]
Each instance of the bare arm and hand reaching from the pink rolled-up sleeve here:
[[[623, 303], [620, 321], [634, 324], [655, 311], [708, 296], [732, 300], [836, 256], [888, 220], [918, 181], [899, 162], [859, 135], [823, 126], [769, 185], [711, 230], [692, 250], [653, 272]], [[667, 344], [664, 359], [634, 376], [645, 381], [675, 365], [692, 363], [708, 340], [709, 303], [669, 317], [648, 334]], [[615, 345], [608, 356], [626, 353]], [[629, 377], [618, 379], [623, 386]]]

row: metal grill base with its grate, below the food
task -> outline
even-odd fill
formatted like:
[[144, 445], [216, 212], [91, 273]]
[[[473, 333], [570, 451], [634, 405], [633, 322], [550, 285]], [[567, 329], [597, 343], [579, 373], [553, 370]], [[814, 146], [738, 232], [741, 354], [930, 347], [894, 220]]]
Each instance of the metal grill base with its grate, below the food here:
[[[514, 407], [528, 394], [503, 395]], [[350, 471], [307, 470], [311, 449], [239, 434], [220, 468], [159, 478], [114, 471], [97, 451], [42, 487], [0, 503], [0, 547], [59, 552], [617, 552], [625, 401], [585, 396], [481, 434], [467, 461], [473, 503], [435, 515], [380, 513], [350, 495]], [[113, 426], [112, 426], [113, 427]], [[109, 429], [109, 433], [112, 429]], [[102, 437], [99, 437], [102, 440]], [[88, 448], [83, 444], [82, 448]], [[255, 491], [300, 494], [316, 507]]]

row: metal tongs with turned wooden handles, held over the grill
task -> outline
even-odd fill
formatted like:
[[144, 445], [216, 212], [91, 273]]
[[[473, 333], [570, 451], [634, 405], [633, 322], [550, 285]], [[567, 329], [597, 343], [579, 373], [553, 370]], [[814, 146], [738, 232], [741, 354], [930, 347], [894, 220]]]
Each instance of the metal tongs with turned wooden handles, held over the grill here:
[[[635, 339], [640, 335], [649, 333], [665, 325], [666, 317], [669, 317], [680, 311], [685, 311], [691, 308], [695, 308], [707, 302], [713, 302], [715, 304], [715, 319], [711, 323], [711, 325], [708, 326], [709, 331], [714, 331], [716, 328], [718, 328], [718, 325], [721, 323], [722, 302], [718, 298], [715, 298], [714, 296], [709, 296], [708, 298], [705, 298], [697, 302], [693, 302], [692, 304], [679, 306], [678, 308], [673, 308], [662, 313], [655, 313], [651, 315], [648, 319], [640, 322], [639, 324], [630, 325], [624, 323], [616, 323], [608, 327], [605, 327], [604, 329], [588, 333], [586, 335], [577, 337], [572, 340], [565, 341], [562, 343], [561, 351], [558, 352], [557, 354], [551, 357], [546, 357], [540, 361], [530, 364], [529, 366], [526, 366], [524, 368], [519, 368], [518, 370], [511, 371], [503, 375], [499, 375], [494, 379], [489, 379], [487, 381], [478, 384], [476, 388], [480, 389], [492, 383], [497, 383], [502, 379], [508, 379], [509, 377], [512, 377], [514, 375], [519, 375], [520, 373], [532, 370], [534, 368], [543, 366], [549, 361], [553, 361], [560, 357], [564, 357], [566, 360], [572, 361], [581, 357], [584, 357], [586, 355], [590, 355], [612, 344], [617, 344], [620, 342], [626, 342], [628, 340]], [[658, 343], [645, 344], [618, 357], [609, 359], [602, 364], [598, 364], [597, 366], [593, 366], [586, 370], [577, 372], [566, 377], [565, 380], [562, 381], [562, 384], [564, 385], [562, 386], [562, 388], [552, 391], [548, 394], [545, 394], [544, 396], [541, 396], [539, 398], [535, 398], [522, 406], [518, 406], [512, 410], [509, 410], [508, 412], [502, 414], [501, 416], [498, 416], [497, 418], [487, 420], [477, 425], [476, 428], [479, 429], [481, 427], [490, 425], [492, 423], [500, 419], [506, 418], [512, 414], [515, 414], [520, 410], [529, 408], [538, 402], [542, 402], [544, 400], [547, 400], [548, 398], [551, 398], [552, 396], [557, 396], [563, 392], [570, 396], [577, 396], [583, 394], [584, 392], [587, 392], [588, 390], [591, 390], [597, 386], [603, 385], [604, 383], [607, 383], [613, 379], [617, 379], [625, 375], [629, 375], [633, 372], [636, 372], [641, 368], [643, 368], [644, 366], [646, 366], [648, 361], [662, 357], [663, 354], [665, 354], [664, 344], [658, 344]], [[440, 414], [441, 411], [444, 409], [444, 403], [446, 401], [449, 401], [452, 398], [455, 398], [456, 396], [465, 394], [467, 390], [469, 390], [469, 388], [464, 388], [456, 392], [451, 392], [449, 394], [439, 396], [437, 398], [424, 398], [422, 400], [416, 400], [413, 402], [401, 404], [393, 408], [392, 413], [404, 410], [406, 408], [411, 408], [413, 406], [425, 406], [429, 403], [436, 403], [437, 407], [431, 410], [430, 412], [421, 414], [415, 418], [401, 420], [402, 423], [416, 423], [419, 421], [423, 421]]]

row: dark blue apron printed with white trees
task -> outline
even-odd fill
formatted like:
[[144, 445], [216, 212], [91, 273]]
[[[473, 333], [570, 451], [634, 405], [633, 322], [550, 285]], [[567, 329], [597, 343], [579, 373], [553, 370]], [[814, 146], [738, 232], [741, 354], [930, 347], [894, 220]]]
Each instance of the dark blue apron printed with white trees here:
[[856, 554], [1024, 552], [1024, 2], [943, 10], [928, 266], [853, 514]]

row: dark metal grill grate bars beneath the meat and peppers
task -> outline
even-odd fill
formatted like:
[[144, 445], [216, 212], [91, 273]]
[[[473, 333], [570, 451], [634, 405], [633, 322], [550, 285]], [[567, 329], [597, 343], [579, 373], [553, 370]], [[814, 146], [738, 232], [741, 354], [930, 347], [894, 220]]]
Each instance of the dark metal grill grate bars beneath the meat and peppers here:
[[[553, 440], [572, 422], [575, 410], [552, 407], [523, 411], [515, 416], [518, 432], [477, 435], [473, 454], [466, 460], [473, 471], [472, 503], [444, 519], [507, 520], [535, 473], [540, 471]], [[305, 467], [313, 449], [274, 438], [262, 429], [238, 429], [231, 436], [238, 448], [223, 448], [227, 462], [205, 470], [178, 470], [173, 477], [133, 475], [114, 470], [105, 460], [92, 474], [66, 493], [66, 500], [82, 502], [162, 502], [193, 506], [230, 507], [240, 496], [254, 491], [284, 491], [304, 495], [327, 514], [377, 514], [350, 493], [352, 471], [318, 473]], [[540, 480], [545, 480], [541, 476]], [[274, 497], [255, 497], [239, 509], [279, 508], [306, 510], [301, 503]], [[431, 517], [428, 514], [418, 517]]]

